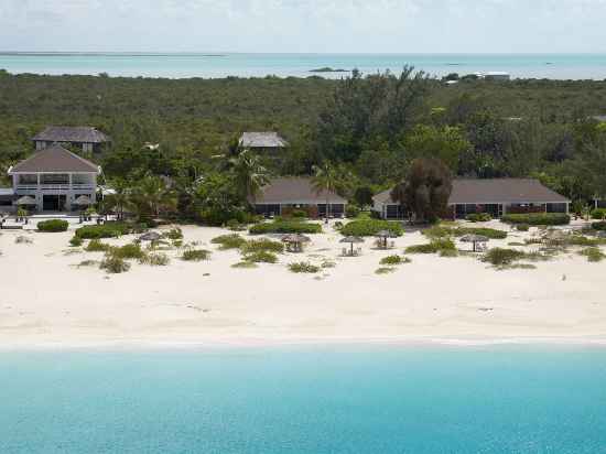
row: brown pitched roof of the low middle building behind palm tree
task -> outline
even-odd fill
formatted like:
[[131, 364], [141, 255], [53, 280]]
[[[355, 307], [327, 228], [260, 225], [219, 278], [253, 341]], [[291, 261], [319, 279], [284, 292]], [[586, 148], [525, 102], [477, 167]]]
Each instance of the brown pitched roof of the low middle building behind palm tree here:
[[346, 204], [347, 201], [334, 192], [321, 191], [317, 193], [310, 177], [280, 177], [264, 186], [255, 203], [260, 205], [272, 204], [325, 204], [328, 196], [329, 204]]

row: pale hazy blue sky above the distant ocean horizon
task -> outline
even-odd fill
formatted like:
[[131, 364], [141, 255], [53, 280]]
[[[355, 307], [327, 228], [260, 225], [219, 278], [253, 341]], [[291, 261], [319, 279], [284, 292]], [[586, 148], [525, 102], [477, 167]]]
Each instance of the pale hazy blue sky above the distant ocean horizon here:
[[0, 51], [602, 53], [606, 0], [0, 0]]

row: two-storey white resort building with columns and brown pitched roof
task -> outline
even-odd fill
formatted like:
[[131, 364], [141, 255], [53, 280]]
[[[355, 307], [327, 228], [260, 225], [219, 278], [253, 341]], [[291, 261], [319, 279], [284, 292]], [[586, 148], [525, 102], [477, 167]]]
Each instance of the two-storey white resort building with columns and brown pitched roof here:
[[66, 212], [86, 204], [83, 201], [94, 203], [100, 172], [90, 161], [51, 145], [9, 169], [13, 203], [31, 201], [30, 208], [37, 212]]

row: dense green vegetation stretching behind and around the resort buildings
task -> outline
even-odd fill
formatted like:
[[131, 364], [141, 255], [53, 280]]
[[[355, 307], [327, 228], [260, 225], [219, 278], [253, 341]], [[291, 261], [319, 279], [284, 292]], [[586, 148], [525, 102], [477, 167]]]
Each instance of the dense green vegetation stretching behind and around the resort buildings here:
[[[117, 190], [99, 213], [248, 224], [247, 197], [270, 174], [316, 174], [318, 185], [366, 205], [407, 179], [419, 159], [442, 161], [453, 176], [534, 176], [578, 212], [606, 194], [606, 127], [591, 119], [605, 114], [604, 82], [446, 86], [411, 68], [344, 80], [0, 72], [0, 93], [1, 179], [33, 152], [30, 138], [46, 125], [89, 125], [112, 137], [102, 153], [87, 156]], [[280, 160], [256, 159], [235, 144], [245, 130], [279, 131], [291, 147]], [[419, 181], [431, 175], [419, 172]], [[442, 204], [448, 184], [428, 194], [422, 186], [414, 188], [423, 196], [418, 209], [433, 220], [432, 205]], [[412, 198], [411, 187], [401, 190], [401, 199]]]

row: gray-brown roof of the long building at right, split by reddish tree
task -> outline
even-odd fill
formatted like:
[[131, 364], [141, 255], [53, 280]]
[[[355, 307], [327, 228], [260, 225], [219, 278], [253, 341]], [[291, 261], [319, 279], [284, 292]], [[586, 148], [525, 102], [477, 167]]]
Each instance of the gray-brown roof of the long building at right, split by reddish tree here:
[[[377, 204], [393, 204], [391, 190], [377, 194], [372, 199]], [[489, 179], [454, 180], [453, 192], [448, 199], [454, 204], [493, 204], [493, 203], [567, 203], [563, 195], [545, 187], [532, 179]]]

